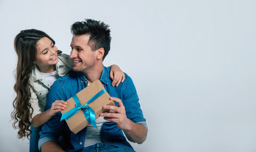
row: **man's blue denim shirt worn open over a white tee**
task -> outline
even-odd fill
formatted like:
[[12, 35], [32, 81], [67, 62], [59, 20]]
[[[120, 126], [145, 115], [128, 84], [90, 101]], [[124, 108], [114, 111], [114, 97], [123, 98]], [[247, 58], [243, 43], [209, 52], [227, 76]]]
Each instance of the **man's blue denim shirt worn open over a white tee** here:
[[[141, 123], [146, 126], [146, 119], [138, 102], [139, 98], [132, 82], [132, 79], [125, 73], [125, 81], [118, 87], [112, 87], [110, 79], [110, 68], [103, 66], [100, 81], [112, 97], [120, 98], [125, 106], [126, 115], [135, 123]], [[45, 111], [51, 108], [55, 100], [68, 100], [84, 89], [88, 82], [83, 73], [72, 71], [62, 76], [51, 87], [47, 95]], [[118, 106], [118, 103], [116, 103]], [[60, 121], [61, 113], [58, 112], [48, 122], [42, 126], [40, 132], [38, 147], [41, 150], [42, 145], [47, 141], [59, 143], [66, 152], [76, 152], [84, 148], [86, 129], [74, 134], [68, 128], [67, 123]], [[147, 126], [146, 126], [147, 127]], [[120, 147], [126, 150], [134, 151], [131, 145], [126, 141], [124, 134], [115, 122], [104, 122], [101, 128], [101, 140], [104, 143]]]

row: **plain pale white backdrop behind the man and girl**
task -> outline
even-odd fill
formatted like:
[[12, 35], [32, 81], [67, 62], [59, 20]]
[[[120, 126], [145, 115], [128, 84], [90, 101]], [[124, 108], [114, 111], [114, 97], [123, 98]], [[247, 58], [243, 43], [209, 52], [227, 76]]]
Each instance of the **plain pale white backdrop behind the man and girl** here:
[[0, 0], [0, 151], [27, 152], [11, 127], [20, 30], [70, 54], [70, 25], [110, 25], [104, 65], [132, 77], [149, 127], [138, 152], [256, 151], [256, 1]]

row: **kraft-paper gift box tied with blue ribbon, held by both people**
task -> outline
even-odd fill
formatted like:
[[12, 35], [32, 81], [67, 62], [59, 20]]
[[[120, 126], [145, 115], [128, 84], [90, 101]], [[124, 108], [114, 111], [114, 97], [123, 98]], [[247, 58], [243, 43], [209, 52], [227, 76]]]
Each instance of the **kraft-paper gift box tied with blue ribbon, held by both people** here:
[[65, 119], [68, 127], [75, 134], [90, 123], [97, 128], [95, 120], [100, 117], [100, 113], [108, 111], [103, 109], [103, 106], [115, 106], [99, 80], [94, 81], [66, 102], [67, 107], [61, 111], [61, 121]]

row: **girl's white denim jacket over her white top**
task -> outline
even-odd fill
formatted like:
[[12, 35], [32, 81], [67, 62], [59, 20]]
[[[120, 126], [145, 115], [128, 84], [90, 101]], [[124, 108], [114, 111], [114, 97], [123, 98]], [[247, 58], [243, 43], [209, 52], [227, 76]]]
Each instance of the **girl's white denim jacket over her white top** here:
[[[59, 62], [56, 64], [56, 71], [59, 76], [64, 76], [72, 70], [73, 61], [69, 58], [69, 55], [67, 54], [58, 54], [57, 57], [59, 59]], [[30, 84], [32, 86], [32, 88], [30, 88], [30, 103], [31, 107], [34, 110], [32, 114], [33, 118], [37, 114], [45, 111], [46, 95], [48, 94], [50, 87], [48, 81], [40, 73], [37, 66], [32, 69]]]

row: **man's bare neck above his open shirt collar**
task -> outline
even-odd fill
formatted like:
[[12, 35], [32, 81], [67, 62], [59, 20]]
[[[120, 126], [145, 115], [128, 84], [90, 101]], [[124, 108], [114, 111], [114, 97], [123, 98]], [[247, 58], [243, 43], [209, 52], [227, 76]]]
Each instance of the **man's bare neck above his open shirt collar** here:
[[91, 84], [97, 79], [99, 80], [101, 78], [101, 73], [103, 71], [103, 65], [96, 65], [92, 69], [84, 71], [83, 74], [85, 78], [87, 79], [88, 83]]

